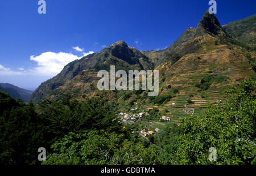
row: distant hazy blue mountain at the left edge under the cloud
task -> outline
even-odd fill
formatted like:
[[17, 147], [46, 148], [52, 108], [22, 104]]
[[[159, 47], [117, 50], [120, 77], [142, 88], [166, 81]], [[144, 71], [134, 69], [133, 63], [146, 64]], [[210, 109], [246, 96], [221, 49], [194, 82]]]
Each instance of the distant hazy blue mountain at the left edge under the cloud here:
[[13, 98], [20, 98], [23, 102], [28, 102], [33, 91], [16, 87], [13, 84], [0, 83], [0, 91], [9, 93]]

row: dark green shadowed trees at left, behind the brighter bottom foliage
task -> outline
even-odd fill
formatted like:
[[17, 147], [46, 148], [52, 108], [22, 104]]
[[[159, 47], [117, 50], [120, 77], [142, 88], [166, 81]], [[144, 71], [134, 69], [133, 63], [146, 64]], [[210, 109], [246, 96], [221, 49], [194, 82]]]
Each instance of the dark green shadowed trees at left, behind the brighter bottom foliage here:
[[35, 164], [39, 147], [50, 151], [52, 143], [69, 132], [123, 134], [106, 101], [92, 99], [79, 104], [64, 96], [58, 102], [43, 101], [35, 109], [31, 103], [0, 92], [0, 105], [1, 164]]

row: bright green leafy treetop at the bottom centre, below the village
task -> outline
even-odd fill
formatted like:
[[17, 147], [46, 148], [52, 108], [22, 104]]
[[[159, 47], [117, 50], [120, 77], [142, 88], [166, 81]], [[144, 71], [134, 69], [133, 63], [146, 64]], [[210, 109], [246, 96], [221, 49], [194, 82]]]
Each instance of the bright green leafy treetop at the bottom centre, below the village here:
[[43, 164], [159, 164], [159, 151], [125, 139], [122, 134], [70, 133], [52, 145]]

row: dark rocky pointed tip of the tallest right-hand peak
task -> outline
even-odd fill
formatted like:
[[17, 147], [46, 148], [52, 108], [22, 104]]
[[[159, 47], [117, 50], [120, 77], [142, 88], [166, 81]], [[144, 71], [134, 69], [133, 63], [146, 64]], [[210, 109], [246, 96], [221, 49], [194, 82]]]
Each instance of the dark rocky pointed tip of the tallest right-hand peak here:
[[212, 33], [213, 35], [220, 35], [221, 33], [225, 33], [216, 16], [214, 14], [210, 14], [209, 11], [204, 13], [196, 28], [197, 36], [203, 35], [205, 32]]

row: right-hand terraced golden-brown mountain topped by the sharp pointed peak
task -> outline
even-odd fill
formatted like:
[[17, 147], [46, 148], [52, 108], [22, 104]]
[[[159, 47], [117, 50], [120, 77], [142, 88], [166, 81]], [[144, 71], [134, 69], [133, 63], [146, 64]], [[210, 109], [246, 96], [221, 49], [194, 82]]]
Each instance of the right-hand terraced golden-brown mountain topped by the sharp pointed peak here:
[[[160, 95], [174, 96], [164, 105], [174, 117], [179, 116], [177, 108], [184, 104], [199, 112], [209, 104], [228, 98], [224, 91], [230, 85], [237, 85], [245, 78], [256, 78], [248, 58], [250, 55], [255, 59], [255, 52], [236, 45], [236, 39], [225, 32], [213, 14], [206, 12], [194, 31], [191, 40], [176, 48], [179, 57], [167, 55], [155, 68], [164, 80], [160, 84]], [[183, 46], [189, 45], [193, 51], [185, 54]]]

